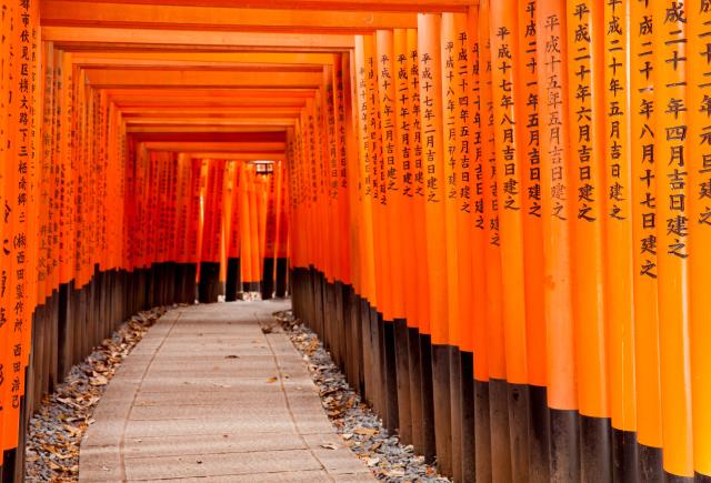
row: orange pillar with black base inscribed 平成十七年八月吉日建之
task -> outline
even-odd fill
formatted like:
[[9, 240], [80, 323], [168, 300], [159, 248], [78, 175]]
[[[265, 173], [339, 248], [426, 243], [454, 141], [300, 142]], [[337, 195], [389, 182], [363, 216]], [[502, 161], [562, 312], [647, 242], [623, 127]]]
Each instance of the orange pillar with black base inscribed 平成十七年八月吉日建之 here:
[[[500, 204], [502, 299], [507, 380], [509, 382], [509, 432], [511, 476], [529, 480], [529, 386], [525, 318], [523, 234], [525, 124], [519, 117], [524, 102], [520, 70], [518, 6], [513, 1], [491, 4], [491, 61], [493, 84], [497, 184]], [[494, 447], [495, 451], [495, 447]]]

